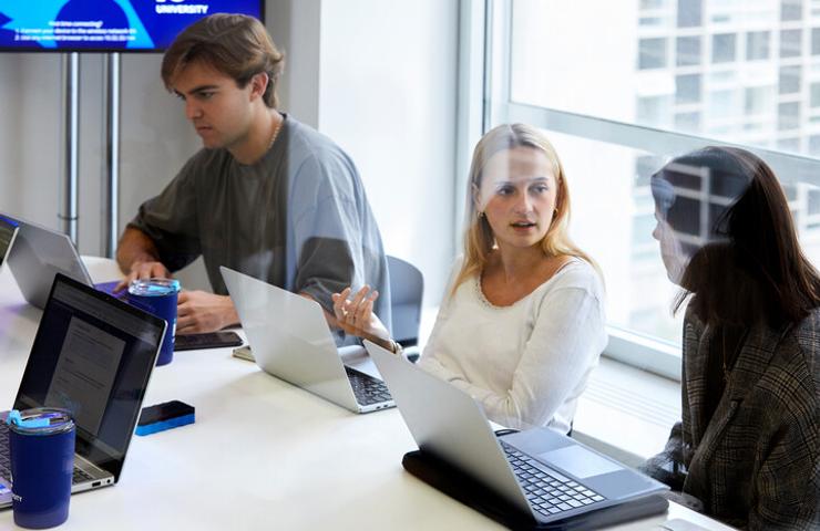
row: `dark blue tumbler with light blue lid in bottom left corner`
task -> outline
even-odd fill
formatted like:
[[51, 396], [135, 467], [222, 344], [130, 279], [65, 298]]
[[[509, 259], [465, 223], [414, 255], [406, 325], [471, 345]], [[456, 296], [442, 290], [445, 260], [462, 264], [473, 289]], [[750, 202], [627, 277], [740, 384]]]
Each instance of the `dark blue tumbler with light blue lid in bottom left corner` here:
[[9, 424], [14, 523], [45, 529], [69, 518], [76, 428], [65, 409], [12, 410]]

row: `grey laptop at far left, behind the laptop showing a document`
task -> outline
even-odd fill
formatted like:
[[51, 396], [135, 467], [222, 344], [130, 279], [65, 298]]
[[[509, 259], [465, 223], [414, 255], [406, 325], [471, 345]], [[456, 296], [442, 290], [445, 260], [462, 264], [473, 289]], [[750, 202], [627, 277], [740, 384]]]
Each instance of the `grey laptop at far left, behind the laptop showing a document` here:
[[0, 215], [19, 226], [8, 256], [9, 269], [29, 304], [45, 308], [54, 274], [62, 273], [79, 282], [111, 293], [119, 281], [94, 284], [71, 238], [30, 221]]

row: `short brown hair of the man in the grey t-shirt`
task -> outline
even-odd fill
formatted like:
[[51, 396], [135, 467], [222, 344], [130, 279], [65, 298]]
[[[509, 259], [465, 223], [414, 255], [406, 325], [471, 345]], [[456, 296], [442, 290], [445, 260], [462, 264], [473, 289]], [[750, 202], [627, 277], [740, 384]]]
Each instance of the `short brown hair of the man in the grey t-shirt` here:
[[233, 77], [244, 88], [259, 73], [267, 73], [265, 105], [276, 108], [276, 85], [285, 54], [276, 49], [265, 27], [244, 14], [216, 13], [188, 25], [165, 51], [162, 80], [172, 90], [174, 77], [191, 63], [202, 61]]

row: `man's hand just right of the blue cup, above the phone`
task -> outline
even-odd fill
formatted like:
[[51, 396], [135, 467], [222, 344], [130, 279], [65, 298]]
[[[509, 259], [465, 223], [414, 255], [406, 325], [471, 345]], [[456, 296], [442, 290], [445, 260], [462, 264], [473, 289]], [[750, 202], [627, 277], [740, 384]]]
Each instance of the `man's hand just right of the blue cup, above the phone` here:
[[181, 291], [176, 304], [176, 333], [216, 332], [239, 323], [239, 315], [227, 295], [205, 291]]

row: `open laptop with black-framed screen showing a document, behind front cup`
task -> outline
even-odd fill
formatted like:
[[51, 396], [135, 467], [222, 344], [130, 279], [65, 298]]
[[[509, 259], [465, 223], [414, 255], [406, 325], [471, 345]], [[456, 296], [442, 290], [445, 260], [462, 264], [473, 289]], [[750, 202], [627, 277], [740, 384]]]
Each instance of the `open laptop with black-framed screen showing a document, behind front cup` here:
[[[13, 407], [71, 410], [72, 492], [119, 481], [165, 326], [112, 295], [55, 277]], [[0, 508], [11, 507], [7, 417], [0, 414]]]

